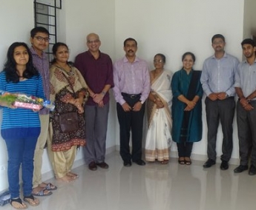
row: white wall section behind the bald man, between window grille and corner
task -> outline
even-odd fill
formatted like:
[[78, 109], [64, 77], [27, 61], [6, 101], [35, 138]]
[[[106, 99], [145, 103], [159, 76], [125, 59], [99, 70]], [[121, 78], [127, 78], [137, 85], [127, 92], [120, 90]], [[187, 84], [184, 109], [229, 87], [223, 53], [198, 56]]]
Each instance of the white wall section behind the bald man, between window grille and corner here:
[[[88, 50], [86, 35], [89, 33], [97, 33], [102, 42], [100, 50], [114, 58], [114, 3], [114, 0], [65, 1], [65, 29], [63, 33], [66, 34], [65, 40], [70, 47], [71, 61], [74, 61], [74, 58], [80, 52]], [[115, 113], [114, 97], [111, 97], [106, 145], [107, 148], [112, 149], [114, 149], [116, 144], [116, 118], [113, 118]]]

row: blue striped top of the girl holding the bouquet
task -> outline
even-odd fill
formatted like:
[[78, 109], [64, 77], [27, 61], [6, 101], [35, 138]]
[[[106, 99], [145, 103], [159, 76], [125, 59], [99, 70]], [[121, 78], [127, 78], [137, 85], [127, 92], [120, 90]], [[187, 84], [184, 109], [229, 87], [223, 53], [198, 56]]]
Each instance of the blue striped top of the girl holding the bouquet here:
[[[33, 95], [45, 100], [45, 94], [42, 87], [41, 76], [33, 76], [30, 79], [19, 81], [18, 83], [6, 81], [5, 72], [0, 73], [0, 90], [6, 92], [19, 92], [27, 95]], [[10, 109], [1, 106], [3, 109], [3, 119], [1, 123], [1, 129], [11, 128], [33, 128], [40, 127], [39, 113], [34, 112], [31, 109]]]

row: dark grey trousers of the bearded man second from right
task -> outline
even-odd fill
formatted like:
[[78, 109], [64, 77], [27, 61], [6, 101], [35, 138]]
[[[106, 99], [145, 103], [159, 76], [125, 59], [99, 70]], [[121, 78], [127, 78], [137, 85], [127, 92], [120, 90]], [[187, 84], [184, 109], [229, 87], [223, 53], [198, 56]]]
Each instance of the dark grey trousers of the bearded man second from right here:
[[206, 98], [206, 121], [208, 126], [208, 158], [216, 160], [216, 138], [219, 123], [221, 123], [223, 131], [221, 160], [229, 161], [233, 149], [233, 118], [234, 118], [234, 97], [226, 98], [222, 101], [211, 101]]

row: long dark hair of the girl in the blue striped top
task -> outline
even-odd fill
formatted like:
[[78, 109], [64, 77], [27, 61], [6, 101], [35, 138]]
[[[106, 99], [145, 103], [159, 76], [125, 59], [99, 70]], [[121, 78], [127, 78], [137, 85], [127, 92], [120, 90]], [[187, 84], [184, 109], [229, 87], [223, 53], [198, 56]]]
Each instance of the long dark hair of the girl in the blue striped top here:
[[6, 75], [7, 82], [18, 83], [19, 82], [19, 75], [17, 74], [16, 70], [16, 61], [14, 59], [14, 50], [16, 47], [23, 46], [26, 48], [27, 53], [29, 55], [28, 62], [26, 64], [26, 70], [24, 70], [22, 77], [24, 78], [32, 78], [34, 75], [39, 75], [39, 72], [33, 67], [33, 58], [30, 52], [30, 49], [27, 47], [27, 44], [24, 42], [14, 42], [10, 45], [7, 51], [7, 61], [4, 64], [4, 71]]

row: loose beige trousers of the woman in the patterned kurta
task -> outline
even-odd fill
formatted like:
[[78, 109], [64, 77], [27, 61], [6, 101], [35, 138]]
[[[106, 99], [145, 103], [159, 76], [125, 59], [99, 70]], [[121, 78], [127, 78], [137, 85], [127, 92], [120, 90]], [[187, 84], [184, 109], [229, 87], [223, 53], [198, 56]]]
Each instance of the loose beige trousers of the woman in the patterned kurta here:
[[47, 152], [50, 159], [51, 166], [53, 167], [53, 172], [56, 178], [62, 178], [71, 171], [73, 166], [73, 161], [76, 158], [76, 147], [72, 146], [71, 149], [60, 152], [53, 152], [51, 150], [53, 136], [53, 126], [52, 123], [49, 125], [49, 132], [47, 136]]

